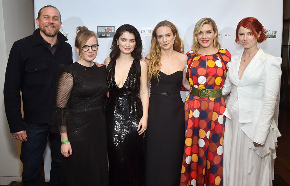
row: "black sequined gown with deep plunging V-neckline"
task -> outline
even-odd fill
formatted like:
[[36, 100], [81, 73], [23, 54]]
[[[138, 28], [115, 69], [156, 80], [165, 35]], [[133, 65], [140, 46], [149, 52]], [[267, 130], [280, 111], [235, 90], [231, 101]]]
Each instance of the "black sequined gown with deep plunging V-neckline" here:
[[115, 66], [111, 60], [107, 67], [109, 185], [144, 185], [144, 134], [137, 133], [143, 115], [138, 96], [140, 61], [134, 59], [121, 88], [115, 82]]

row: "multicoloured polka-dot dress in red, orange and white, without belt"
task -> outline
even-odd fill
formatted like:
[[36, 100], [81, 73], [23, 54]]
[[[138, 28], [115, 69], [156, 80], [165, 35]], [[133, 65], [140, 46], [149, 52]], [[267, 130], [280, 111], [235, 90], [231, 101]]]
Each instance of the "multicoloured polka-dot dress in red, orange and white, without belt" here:
[[[221, 89], [230, 61], [228, 50], [213, 55], [187, 53], [187, 79], [195, 88]], [[180, 185], [223, 184], [224, 98], [185, 99], [185, 144]]]

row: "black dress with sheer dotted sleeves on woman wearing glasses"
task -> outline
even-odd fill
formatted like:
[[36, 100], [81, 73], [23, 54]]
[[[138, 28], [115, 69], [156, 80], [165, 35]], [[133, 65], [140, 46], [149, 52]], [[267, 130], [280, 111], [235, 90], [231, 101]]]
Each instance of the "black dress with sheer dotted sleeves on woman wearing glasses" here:
[[62, 159], [62, 184], [107, 185], [106, 68], [75, 62], [67, 66], [57, 87], [50, 128], [67, 132], [72, 147], [72, 156]]

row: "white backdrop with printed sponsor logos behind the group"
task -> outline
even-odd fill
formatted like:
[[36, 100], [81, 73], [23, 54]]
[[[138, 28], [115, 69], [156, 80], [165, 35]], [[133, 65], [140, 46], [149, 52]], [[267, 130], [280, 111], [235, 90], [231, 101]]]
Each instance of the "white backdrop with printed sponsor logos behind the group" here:
[[[266, 53], [281, 56], [283, 0], [35, 0], [34, 14], [45, 5], [53, 5], [61, 13], [62, 29], [67, 35], [68, 43], [73, 48], [73, 60], [79, 59], [74, 48], [76, 27], [87, 26], [97, 31], [97, 26], [115, 26], [131, 24], [139, 30], [155, 27], [163, 20], [171, 21], [178, 27], [179, 35], [184, 41], [185, 52], [191, 50], [192, 32], [195, 23], [204, 17], [212, 18], [218, 25], [219, 41], [232, 55], [242, 53], [243, 48], [234, 44], [235, 30], [238, 22], [245, 17], [257, 18], [271, 37], [258, 44]], [[37, 25], [35, 24], [36, 28]], [[143, 58], [150, 51], [151, 35], [142, 35]], [[95, 59], [103, 63], [109, 56], [112, 38], [98, 38], [98, 55]], [[187, 95], [182, 93], [183, 99]], [[49, 155], [49, 151], [46, 152]], [[49, 164], [46, 166], [50, 168]], [[48, 179], [46, 175], [46, 180]]]

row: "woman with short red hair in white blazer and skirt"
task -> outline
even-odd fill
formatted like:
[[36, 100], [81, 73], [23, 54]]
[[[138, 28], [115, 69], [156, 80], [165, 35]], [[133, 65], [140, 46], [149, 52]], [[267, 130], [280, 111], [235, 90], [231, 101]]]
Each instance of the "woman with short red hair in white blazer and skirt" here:
[[222, 94], [230, 94], [224, 112], [224, 185], [272, 185], [277, 137], [280, 57], [264, 53], [263, 25], [252, 17], [237, 25], [244, 51], [232, 56]]

